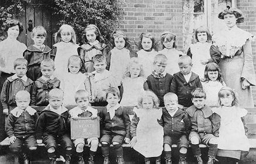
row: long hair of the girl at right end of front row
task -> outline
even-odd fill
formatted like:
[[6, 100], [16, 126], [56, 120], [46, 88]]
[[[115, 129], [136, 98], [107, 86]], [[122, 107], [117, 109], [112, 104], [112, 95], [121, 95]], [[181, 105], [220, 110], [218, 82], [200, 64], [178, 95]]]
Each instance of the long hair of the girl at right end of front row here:
[[223, 104], [221, 104], [220, 98], [224, 98], [227, 96], [232, 96], [233, 97], [233, 102], [232, 102], [232, 106], [238, 106], [238, 95], [237, 93], [235, 93], [234, 89], [231, 89], [227, 86], [224, 86], [223, 88], [220, 89], [219, 93], [218, 93], [218, 103], [220, 106], [222, 106]]

